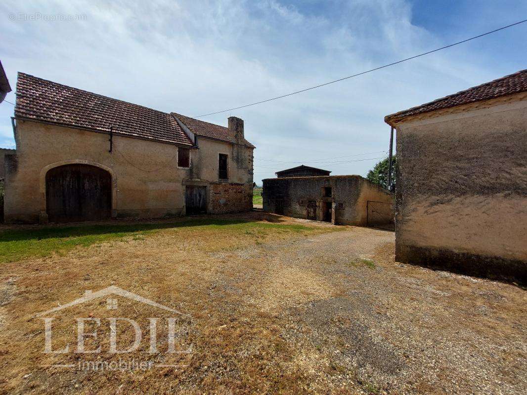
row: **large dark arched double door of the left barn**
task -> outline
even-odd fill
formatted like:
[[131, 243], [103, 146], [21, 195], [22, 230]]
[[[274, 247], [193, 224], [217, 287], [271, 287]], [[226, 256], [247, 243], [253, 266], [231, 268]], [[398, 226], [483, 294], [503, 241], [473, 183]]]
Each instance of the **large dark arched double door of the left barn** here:
[[112, 176], [96, 166], [70, 164], [46, 173], [46, 209], [51, 222], [110, 218]]

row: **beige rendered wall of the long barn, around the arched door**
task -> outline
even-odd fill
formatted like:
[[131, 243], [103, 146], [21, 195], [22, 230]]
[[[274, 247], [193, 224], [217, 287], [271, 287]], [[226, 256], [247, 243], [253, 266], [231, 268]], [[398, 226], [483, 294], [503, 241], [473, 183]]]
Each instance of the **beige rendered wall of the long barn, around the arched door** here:
[[[17, 150], [6, 156], [6, 222], [45, 220], [45, 174], [50, 167], [86, 163], [112, 174], [112, 216], [156, 218], [185, 212], [184, 181], [218, 182], [218, 153], [229, 154], [229, 181], [252, 186], [252, 149], [199, 138], [191, 168], [177, 166], [177, 146], [30, 121], [17, 121]], [[247, 210], [243, 205], [239, 211]]]

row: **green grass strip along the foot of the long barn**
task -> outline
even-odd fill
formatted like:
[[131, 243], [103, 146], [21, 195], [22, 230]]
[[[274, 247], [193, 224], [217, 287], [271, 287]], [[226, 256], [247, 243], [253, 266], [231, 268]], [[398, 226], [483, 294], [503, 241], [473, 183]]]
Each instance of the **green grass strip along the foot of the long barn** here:
[[146, 240], [152, 234], [163, 230], [199, 232], [208, 230], [219, 235], [249, 235], [259, 238], [270, 233], [304, 233], [316, 230], [304, 225], [282, 225], [245, 220], [192, 219], [172, 223], [134, 223], [64, 226], [0, 232], [0, 262], [49, 256], [52, 253], [66, 253], [76, 247], [87, 247], [110, 241]]

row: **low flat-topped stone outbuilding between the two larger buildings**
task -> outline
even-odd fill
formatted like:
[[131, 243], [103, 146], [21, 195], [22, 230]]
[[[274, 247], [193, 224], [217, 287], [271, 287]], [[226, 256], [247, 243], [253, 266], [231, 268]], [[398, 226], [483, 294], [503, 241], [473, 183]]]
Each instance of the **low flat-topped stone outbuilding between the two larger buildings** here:
[[264, 211], [334, 224], [393, 223], [393, 195], [359, 175], [263, 180]]

